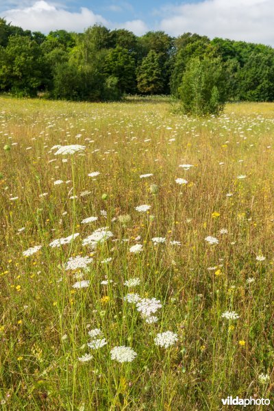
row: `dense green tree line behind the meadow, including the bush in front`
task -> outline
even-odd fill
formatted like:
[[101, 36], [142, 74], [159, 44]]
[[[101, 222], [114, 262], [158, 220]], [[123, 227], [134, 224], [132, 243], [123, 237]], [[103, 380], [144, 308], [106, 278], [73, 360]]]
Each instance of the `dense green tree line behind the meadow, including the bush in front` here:
[[102, 25], [46, 36], [0, 18], [0, 90], [74, 101], [164, 94], [182, 98], [186, 112], [216, 112], [227, 100], [274, 101], [274, 49]]

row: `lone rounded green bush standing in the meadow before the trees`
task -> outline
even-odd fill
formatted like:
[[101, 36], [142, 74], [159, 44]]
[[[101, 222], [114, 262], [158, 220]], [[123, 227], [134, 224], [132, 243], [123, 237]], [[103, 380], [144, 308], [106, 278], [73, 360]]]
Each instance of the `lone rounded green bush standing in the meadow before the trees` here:
[[191, 59], [179, 87], [185, 114], [219, 114], [227, 98], [226, 73], [219, 58]]

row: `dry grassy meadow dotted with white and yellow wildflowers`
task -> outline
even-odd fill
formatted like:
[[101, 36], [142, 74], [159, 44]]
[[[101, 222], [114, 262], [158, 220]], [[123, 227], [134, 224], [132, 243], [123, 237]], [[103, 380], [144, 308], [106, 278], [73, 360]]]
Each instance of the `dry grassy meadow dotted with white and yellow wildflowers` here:
[[272, 399], [274, 105], [0, 106], [2, 409]]

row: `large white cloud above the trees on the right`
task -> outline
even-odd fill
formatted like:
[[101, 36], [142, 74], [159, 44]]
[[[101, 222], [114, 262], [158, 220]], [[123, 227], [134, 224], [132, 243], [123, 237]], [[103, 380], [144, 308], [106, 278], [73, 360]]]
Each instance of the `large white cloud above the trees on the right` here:
[[162, 8], [162, 29], [274, 45], [273, 0], [203, 0]]

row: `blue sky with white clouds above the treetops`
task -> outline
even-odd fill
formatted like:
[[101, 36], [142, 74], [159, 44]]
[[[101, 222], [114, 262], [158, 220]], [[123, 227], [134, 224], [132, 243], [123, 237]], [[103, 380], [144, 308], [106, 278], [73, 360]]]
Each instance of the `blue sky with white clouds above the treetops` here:
[[196, 32], [274, 45], [274, 0], [0, 0], [0, 16], [24, 29], [83, 32], [101, 23], [138, 36]]

